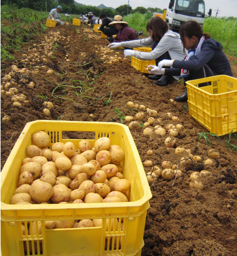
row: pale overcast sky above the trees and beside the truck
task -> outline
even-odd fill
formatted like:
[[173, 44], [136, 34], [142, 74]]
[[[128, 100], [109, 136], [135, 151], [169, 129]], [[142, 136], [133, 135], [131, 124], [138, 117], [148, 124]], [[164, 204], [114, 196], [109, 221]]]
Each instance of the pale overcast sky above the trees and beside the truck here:
[[[129, 5], [132, 9], [138, 6], [158, 7], [160, 9], [167, 9], [170, 0], [75, 0], [75, 2], [82, 3], [83, 5], [99, 6], [103, 3], [107, 7], [119, 7], [120, 5]], [[215, 16], [218, 11], [217, 17], [221, 16], [234, 16], [237, 17], [237, 1], [236, 0], [206, 0], [206, 14], [209, 9], [212, 9], [212, 15]]]

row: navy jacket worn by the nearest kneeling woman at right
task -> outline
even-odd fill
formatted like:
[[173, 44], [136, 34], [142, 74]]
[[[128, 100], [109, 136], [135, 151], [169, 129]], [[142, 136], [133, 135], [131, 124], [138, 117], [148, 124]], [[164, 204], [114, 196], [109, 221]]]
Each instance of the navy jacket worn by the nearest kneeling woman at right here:
[[209, 65], [215, 76], [232, 76], [230, 62], [225, 53], [222, 52], [222, 44], [212, 38], [208, 38], [202, 43], [200, 53], [194, 55], [192, 60], [173, 61], [173, 68], [170, 70], [166, 69], [166, 75], [177, 75], [177, 73], [180, 73], [179, 69], [181, 70], [181, 68], [188, 69], [189, 71], [197, 71], [205, 64]]

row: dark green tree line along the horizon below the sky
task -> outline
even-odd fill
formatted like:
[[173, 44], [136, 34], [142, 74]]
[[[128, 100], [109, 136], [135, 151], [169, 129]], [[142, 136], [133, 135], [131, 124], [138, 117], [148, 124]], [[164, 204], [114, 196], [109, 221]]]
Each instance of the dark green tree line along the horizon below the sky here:
[[57, 5], [61, 5], [64, 13], [69, 14], [87, 14], [89, 11], [96, 16], [99, 16], [101, 12], [107, 13], [109, 17], [113, 17], [115, 15], [125, 16], [133, 13], [141, 13], [145, 14], [147, 12], [151, 13], [163, 13], [162, 9], [159, 8], [145, 8], [142, 6], [137, 7], [136, 9], [132, 9], [130, 5], [121, 5], [116, 9], [104, 8], [99, 9], [96, 6], [90, 5], [77, 5], [74, 0], [2, 0], [1, 5], [16, 5], [20, 8], [29, 8], [37, 11], [46, 11], [49, 12], [51, 9], [56, 8]]

